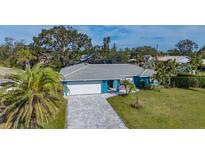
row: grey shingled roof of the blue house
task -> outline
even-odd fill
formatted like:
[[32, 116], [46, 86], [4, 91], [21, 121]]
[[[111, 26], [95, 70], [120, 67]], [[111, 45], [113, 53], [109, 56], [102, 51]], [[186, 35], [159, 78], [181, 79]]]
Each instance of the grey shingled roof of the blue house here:
[[77, 64], [62, 68], [67, 81], [123, 79], [132, 76], [152, 76], [154, 70], [145, 70], [133, 64]]

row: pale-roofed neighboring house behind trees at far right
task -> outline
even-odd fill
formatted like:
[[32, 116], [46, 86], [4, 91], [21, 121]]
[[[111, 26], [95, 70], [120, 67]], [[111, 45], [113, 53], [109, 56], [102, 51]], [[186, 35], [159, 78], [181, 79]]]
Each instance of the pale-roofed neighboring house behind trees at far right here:
[[190, 57], [188, 56], [162, 56], [157, 57], [158, 61], [168, 61], [168, 60], [176, 60], [178, 64], [186, 64], [190, 61]]

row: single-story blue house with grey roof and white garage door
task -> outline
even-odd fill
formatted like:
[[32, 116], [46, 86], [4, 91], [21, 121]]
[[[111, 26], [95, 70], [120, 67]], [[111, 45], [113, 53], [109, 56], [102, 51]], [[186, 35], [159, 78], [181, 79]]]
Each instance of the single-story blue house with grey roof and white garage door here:
[[64, 95], [100, 94], [119, 92], [120, 80], [130, 80], [137, 87], [139, 81], [152, 83], [152, 69], [133, 64], [76, 64], [62, 68]]

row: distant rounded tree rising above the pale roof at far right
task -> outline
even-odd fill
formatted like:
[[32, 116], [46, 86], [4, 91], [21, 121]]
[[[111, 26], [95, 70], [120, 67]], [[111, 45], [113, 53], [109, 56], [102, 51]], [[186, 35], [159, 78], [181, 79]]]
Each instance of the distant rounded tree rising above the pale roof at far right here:
[[182, 55], [190, 55], [194, 50], [198, 49], [198, 44], [192, 40], [185, 39], [180, 40], [176, 47]]

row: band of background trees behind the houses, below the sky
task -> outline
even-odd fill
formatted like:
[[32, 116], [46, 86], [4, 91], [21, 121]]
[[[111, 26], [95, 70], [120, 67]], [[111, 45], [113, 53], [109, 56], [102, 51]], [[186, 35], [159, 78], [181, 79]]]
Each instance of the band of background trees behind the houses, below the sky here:
[[[204, 57], [204, 47], [198, 49], [198, 44], [192, 40], [180, 40], [175, 49], [167, 52], [158, 51], [157, 47], [142, 46], [124, 49], [117, 48], [110, 36], [102, 38], [102, 45], [92, 45], [91, 38], [71, 26], [54, 26], [33, 37], [33, 42], [16, 41], [6, 37], [0, 45], [0, 65], [21, 68], [19, 51], [30, 51], [34, 59], [30, 59], [31, 67], [39, 62], [59, 71], [60, 68], [81, 62], [81, 57], [87, 55], [89, 63], [134, 63], [144, 68], [154, 68], [157, 56], [184, 55], [194, 53]], [[24, 53], [25, 54], [25, 53]], [[146, 60], [152, 56], [152, 60]]]

